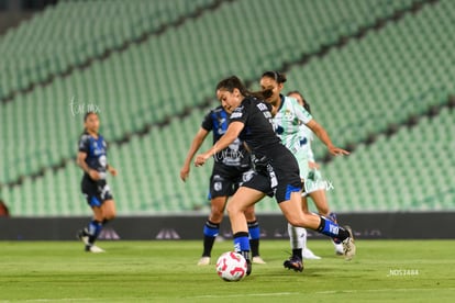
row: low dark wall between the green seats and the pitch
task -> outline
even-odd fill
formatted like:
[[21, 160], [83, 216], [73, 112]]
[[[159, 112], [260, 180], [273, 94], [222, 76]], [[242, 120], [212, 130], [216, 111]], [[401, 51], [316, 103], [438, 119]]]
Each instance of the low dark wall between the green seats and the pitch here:
[[[280, 214], [258, 214], [263, 238], [288, 238], [287, 223]], [[103, 229], [102, 239], [201, 239], [207, 215], [123, 216]], [[353, 227], [365, 239], [453, 239], [455, 212], [355, 213], [341, 214], [339, 221]], [[0, 240], [71, 240], [88, 217], [0, 218]], [[220, 237], [231, 238], [225, 217]], [[325, 238], [309, 231], [311, 238]]]

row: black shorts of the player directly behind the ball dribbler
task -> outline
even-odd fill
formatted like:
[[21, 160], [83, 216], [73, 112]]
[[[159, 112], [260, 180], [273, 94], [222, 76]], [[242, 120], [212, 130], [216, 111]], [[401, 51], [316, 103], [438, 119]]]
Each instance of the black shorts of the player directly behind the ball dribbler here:
[[241, 184], [252, 178], [253, 173], [251, 168], [214, 164], [210, 177], [209, 199], [233, 195]]

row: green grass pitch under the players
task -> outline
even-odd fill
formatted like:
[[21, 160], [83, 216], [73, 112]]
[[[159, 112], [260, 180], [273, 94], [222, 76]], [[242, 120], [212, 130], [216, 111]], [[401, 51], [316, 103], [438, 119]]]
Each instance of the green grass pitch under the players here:
[[[0, 242], [0, 302], [450, 302], [455, 294], [455, 240], [357, 240], [352, 261], [329, 240], [310, 240], [321, 260], [303, 272], [284, 269], [287, 240], [263, 240], [267, 265], [224, 282], [214, 265], [196, 266], [201, 242]], [[215, 243], [212, 263], [232, 249]]]

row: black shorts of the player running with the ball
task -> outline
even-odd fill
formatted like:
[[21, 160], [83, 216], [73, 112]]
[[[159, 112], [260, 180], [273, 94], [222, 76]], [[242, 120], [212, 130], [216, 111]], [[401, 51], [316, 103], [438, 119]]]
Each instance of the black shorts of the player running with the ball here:
[[299, 165], [296, 157], [286, 148], [268, 155], [253, 178], [243, 187], [274, 197], [278, 203], [290, 200], [292, 192], [302, 189]]

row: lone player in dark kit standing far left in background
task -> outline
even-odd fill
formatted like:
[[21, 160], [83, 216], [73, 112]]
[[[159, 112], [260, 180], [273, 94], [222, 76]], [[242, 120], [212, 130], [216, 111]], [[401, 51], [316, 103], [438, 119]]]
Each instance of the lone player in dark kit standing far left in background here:
[[85, 131], [79, 139], [77, 165], [84, 170], [81, 191], [93, 211], [93, 218], [88, 226], [79, 231], [78, 237], [86, 245], [86, 251], [103, 252], [95, 245], [103, 225], [115, 217], [115, 204], [106, 182], [107, 172], [116, 176], [116, 170], [108, 165], [107, 143], [98, 133], [99, 117], [95, 112], [84, 116]]

